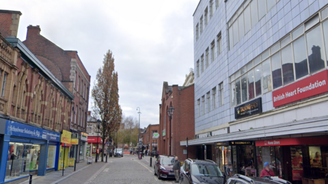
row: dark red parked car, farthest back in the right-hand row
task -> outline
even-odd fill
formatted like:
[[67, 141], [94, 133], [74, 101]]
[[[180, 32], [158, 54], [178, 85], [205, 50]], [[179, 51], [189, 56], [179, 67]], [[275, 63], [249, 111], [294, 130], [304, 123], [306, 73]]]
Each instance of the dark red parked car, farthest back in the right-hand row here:
[[174, 170], [172, 170], [174, 161], [174, 156], [159, 155], [154, 164], [154, 174], [159, 179], [174, 179]]

